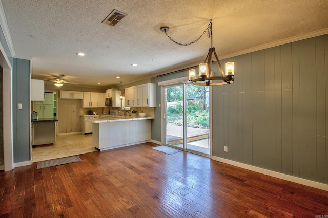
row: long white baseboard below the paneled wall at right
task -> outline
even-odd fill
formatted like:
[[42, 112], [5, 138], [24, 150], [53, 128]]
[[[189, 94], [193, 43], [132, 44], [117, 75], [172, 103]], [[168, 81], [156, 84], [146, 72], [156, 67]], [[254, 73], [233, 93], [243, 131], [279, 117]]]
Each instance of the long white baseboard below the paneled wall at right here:
[[306, 180], [306, 179], [302, 179], [302, 178], [299, 178], [299, 177], [286, 175], [286, 174], [283, 174], [283, 173], [280, 173], [280, 172], [275, 172], [275, 171], [272, 171], [272, 170], [269, 170], [269, 169], [263, 169], [263, 168], [260, 168], [260, 167], [256, 167], [256, 166], [252, 166], [252, 165], [248, 165], [248, 164], [244, 164], [244, 163], [239, 163], [237, 161], [232, 161], [232, 160], [228, 160], [228, 159], [224, 159], [224, 158], [220, 158], [220, 157], [216, 157], [216, 156], [212, 156], [212, 159], [215, 160], [215, 161], [222, 162], [222, 163], [237, 166], [237, 167], [240, 167], [240, 168], [243, 168], [243, 169], [248, 169], [248, 170], [252, 170], [252, 171], [255, 171], [255, 172], [259, 172], [259, 173], [262, 173], [264, 175], [268, 175], [268, 176], [271, 176], [271, 177], [276, 177], [276, 178], [283, 179], [283, 180], [286, 180], [286, 181], [295, 182], [295, 183], [298, 183], [298, 184], [301, 184], [301, 185], [306, 185], [306, 186], [310, 186], [310, 187], [313, 187], [313, 188], [318, 188], [318, 189], [328, 191], [328, 185], [323, 184], [323, 183], [319, 183], [319, 182], [315, 182], [315, 181], [312, 181], [312, 180]]

